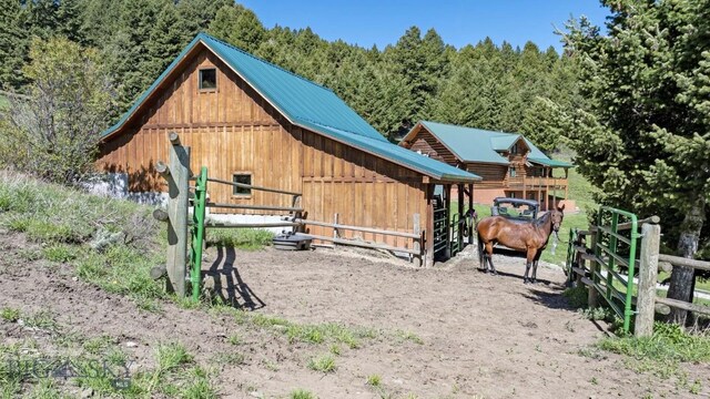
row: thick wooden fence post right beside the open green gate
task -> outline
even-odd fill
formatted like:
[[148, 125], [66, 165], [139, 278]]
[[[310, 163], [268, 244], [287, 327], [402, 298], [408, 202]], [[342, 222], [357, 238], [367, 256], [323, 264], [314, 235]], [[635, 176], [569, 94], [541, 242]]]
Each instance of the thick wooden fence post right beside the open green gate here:
[[639, 287], [636, 300], [636, 326], [633, 328], [633, 335], [637, 337], [650, 337], [653, 334], [660, 241], [661, 226], [649, 223], [641, 226]]

